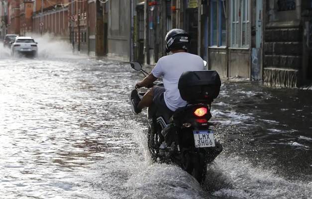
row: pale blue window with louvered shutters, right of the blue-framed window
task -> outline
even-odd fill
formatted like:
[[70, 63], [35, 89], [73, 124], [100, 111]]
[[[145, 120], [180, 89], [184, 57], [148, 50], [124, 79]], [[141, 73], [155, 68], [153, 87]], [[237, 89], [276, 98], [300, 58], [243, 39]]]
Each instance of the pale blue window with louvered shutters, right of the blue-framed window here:
[[249, 0], [231, 0], [231, 47], [249, 48]]

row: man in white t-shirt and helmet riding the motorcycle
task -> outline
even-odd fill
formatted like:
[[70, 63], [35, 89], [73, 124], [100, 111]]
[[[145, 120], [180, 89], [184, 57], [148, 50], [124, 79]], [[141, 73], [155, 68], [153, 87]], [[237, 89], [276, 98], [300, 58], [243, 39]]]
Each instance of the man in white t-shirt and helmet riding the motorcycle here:
[[[188, 49], [191, 45], [190, 35], [183, 29], [170, 30], [165, 38], [166, 53], [171, 55], [160, 58], [152, 70], [141, 82], [135, 85], [130, 94], [132, 112], [138, 114], [144, 107], [149, 107], [153, 102], [156, 106], [175, 111], [187, 104], [182, 100], [178, 89], [179, 78], [186, 71], [204, 70], [203, 59], [191, 53]], [[158, 78], [163, 76], [164, 87], [154, 86], [140, 100], [136, 89], [148, 87]]]

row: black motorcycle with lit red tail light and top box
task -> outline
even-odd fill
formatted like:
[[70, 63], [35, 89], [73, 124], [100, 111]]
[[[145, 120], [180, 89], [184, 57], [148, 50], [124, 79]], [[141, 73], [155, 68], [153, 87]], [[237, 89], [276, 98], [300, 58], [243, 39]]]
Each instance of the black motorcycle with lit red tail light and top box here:
[[[132, 61], [130, 65], [144, 76], [148, 75], [140, 63]], [[216, 71], [184, 72], [179, 79], [178, 89], [182, 99], [187, 101], [185, 107], [174, 112], [156, 107], [155, 104], [147, 108], [147, 140], [152, 160], [179, 165], [201, 185], [206, 180], [207, 165], [222, 151], [222, 145], [214, 139], [214, 131], [210, 128], [220, 123], [209, 121], [212, 117], [211, 102], [219, 95], [220, 86]], [[140, 98], [144, 94], [138, 93]]]

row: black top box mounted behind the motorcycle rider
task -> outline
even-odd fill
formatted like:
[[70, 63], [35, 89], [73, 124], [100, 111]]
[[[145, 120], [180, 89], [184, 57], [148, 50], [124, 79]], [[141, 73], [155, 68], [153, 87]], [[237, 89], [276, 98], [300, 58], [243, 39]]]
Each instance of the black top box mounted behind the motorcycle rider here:
[[216, 71], [187, 71], [182, 73], [178, 89], [188, 103], [211, 103], [220, 93], [221, 80]]

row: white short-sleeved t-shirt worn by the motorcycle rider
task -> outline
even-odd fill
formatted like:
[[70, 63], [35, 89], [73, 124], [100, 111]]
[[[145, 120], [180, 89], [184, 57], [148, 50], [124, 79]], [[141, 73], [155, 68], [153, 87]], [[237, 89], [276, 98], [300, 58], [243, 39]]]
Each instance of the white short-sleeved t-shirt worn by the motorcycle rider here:
[[160, 58], [154, 67], [152, 74], [156, 78], [163, 76], [165, 87], [164, 98], [166, 105], [172, 111], [187, 104], [182, 100], [178, 83], [179, 78], [185, 71], [201, 71], [204, 70], [203, 59], [191, 53], [180, 52], [167, 55]]

